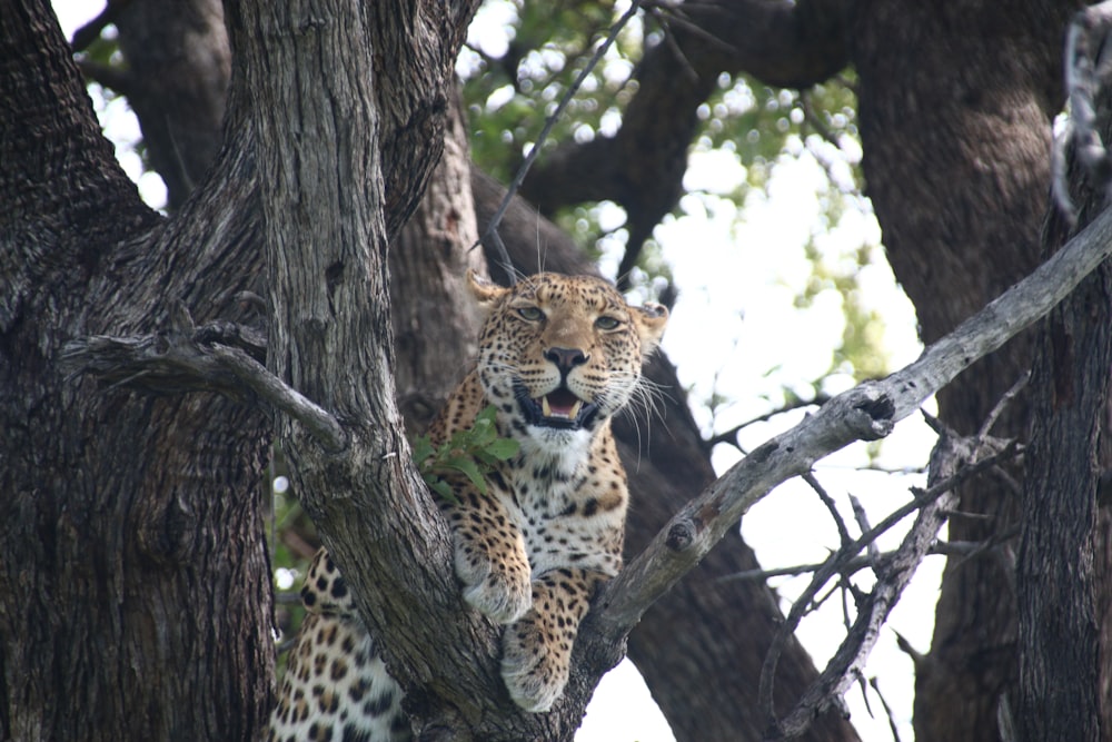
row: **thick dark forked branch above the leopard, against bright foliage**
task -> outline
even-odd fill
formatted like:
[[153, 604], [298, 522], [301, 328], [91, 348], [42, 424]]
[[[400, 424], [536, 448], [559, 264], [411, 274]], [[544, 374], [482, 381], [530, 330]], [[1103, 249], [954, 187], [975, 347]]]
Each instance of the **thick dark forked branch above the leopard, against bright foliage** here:
[[[560, 206], [610, 199], [628, 215], [618, 287], [653, 228], [683, 192], [699, 103], [722, 72], [804, 88], [848, 62], [844, 0], [685, 2], [656, 6], [665, 41], [645, 50], [637, 93], [614, 137], [567, 142], [534, 168], [522, 195], [550, 215]], [[683, 80], [683, 85], [676, 85]], [[653, 152], [646, 157], [645, 152]]]

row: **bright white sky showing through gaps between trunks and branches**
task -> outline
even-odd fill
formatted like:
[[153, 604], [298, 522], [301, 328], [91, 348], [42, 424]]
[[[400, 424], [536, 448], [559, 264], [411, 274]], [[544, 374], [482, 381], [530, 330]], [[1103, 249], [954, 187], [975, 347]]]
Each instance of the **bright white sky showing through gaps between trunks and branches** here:
[[[63, 31], [73, 31], [101, 8], [87, 0], [56, 0]], [[622, 12], [623, 9], [618, 9]], [[514, 18], [509, 2], [488, 0], [477, 17], [469, 40], [498, 55], [508, 40], [505, 27]], [[628, 73], [626, 68], [608, 69], [607, 75]], [[96, 96], [95, 96], [96, 98]], [[165, 202], [165, 188], [152, 174], [143, 174], [133, 150], [139, 139], [138, 125], [123, 99], [98, 101], [99, 113], [110, 139], [118, 142], [118, 156], [128, 174], [137, 179], [143, 197], [155, 206]], [[610, 122], [609, 126], [616, 126]], [[880, 247], [880, 228], [867, 202], [847, 210], [832, 226], [823, 226], [820, 196], [826, 186], [826, 170], [808, 150], [824, 148], [824, 161], [834, 162], [847, 172], [860, 159], [855, 142], [844, 141], [841, 149], [830, 145], [794, 140], [788, 151], [772, 169], [767, 195], [752, 194], [742, 209], [714, 194], [729, 194], [744, 179], [745, 170], [736, 155], [728, 151], [692, 154], [685, 186], [701, 190], [681, 202], [678, 217], [668, 217], [657, 227], [655, 238], [672, 266], [679, 299], [665, 336], [664, 348], [678, 364], [679, 378], [694, 400], [696, 419], [706, 431], [723, 431], [778, 405], [783, 386], [807, 389], [831, 364], [831, 353], [841, 342], [843, 314], [835, 293], [820, 295], [810, 309], [795, 307], [794, 298], [811, 276], [811, 263], [804, 251], [808, 239], [824, 258], [836, 260], [853, 254], [862, 245], [871, 246], [871, 264], [858, 274], [864, 300], [885, 319], [883, 346], [891, 370], [913, 360], [921, 346], [916, 338], [915, 316], [911, 304], [896, 286]], [[602, 219], [620, 225], [618, 207], [604, 206]], [[608, 209], [608, 211], [607, 211]], [[604, 258], [604, 269], [616, 269], [619, 246], [612, 246]], [[852, 379], [827, 379], [826, 390], [838, 392]], [[717, 419], [698, 404], [711, 394], [732, 402], [719, 409]], [[801, 392], [802, 393], [802, 392]], [[787, 426], [802, 413], [784, 415], [767, 424], [748, 428], [743, 445], [752, 449]], [[910, 418], [881, 446], [877, 459], [888, 469], [911, 469], [926, 462], [933, 436], [920, 418]], [[718, 446], [714, 464], [721, 473], [741, 457], [737, 449]], [[921, 485], [923, 476], [891, 475], [858, 471], [868, 463], [863, 445], [852, 446], [822, 462], [816, 475], [836, 498], [847, 523], [853, 523], [846, 495], [861, 498], [873, 523], [907, 498], [907, 487]], [[765, 567], [788, 566], [825, 558], [837, 546], [837, 534], [817, 497], [798, 482], [788, 483], [758, 503], [745, 516], [742, 531]], [[881, 542], [891, 548], [902, 535]], [[943, 536], [945, 534], [943, 533]], [[905, 636], [921, 652], [930, 649], [930, 639], [943, 562], [932, 557], [913, 580], [893, 612], [867, 669], [880, 679], [885, 702], [892, 706], [903, 740], [913, 739], [911, 710], [914, 675], [910, 660], [895, 646], [894, 632]], [[805, 577], [774, 582], [783, 598], [798, 594]], [[784, 610], [787, 603], [782, 601]], [[831, 600], [807, 619], [800, 640], [820, 666], [837, 647], [843, 636], [838, 600]], [[892, 740], [887, 719], [880, 701], [871, 695], [866, 709], [860, 690], [847, 695], [852, 721], [864, 740]], [[669, 742], [674, 738], [656, 709], [637, 671], [624, 662], [604, 679], [588, 708], [577, 742]]]

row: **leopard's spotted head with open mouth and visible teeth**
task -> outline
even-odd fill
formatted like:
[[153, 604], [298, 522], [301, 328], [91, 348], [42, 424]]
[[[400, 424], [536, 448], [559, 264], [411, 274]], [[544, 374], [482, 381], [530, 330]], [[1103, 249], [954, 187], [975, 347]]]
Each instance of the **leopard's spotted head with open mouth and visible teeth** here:
[[629, 402], [668, 310], [634, 307], [607, 281], [538, 274], [512, 288], [468, 274], [486, 311], [478, 373], [517, 438], [565, 445], [590, 437]]

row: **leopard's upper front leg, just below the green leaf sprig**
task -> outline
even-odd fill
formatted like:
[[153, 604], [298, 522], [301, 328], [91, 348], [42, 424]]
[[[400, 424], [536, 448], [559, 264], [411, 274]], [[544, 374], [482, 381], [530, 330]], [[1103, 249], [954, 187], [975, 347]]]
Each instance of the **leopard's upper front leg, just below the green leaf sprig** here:
[[497, 495], [455, 483], [459, 504], [441, 508], [451, 525], [464, 600], [495, 623], [512, 623], [533, 604], [525, 541]]

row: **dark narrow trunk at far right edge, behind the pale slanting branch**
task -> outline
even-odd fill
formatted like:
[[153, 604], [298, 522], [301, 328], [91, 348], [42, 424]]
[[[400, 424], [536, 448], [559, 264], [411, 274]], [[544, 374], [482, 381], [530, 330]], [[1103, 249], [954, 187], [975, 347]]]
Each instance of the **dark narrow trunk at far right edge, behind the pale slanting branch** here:
[[[1109, 95], [1099, 97], [1109, 135]], [[1084, 205], [1083, 227], [1105, 207], [1103, 184], [1084, 167], [1071, 172]], [[1043, 230], [1052, 251], [1074, 230], [1053, 206]], [[1016, 562], [1019, 691], [1012, 704], [1017, 739], [1101, 740], [1102, 629], [1108, 616], [1101, 580], [1109, 527], [1098, 509], [1101, 472], [1110, 459], [1104, 432], [1112, 366], [1112, 267], [1104, 265], [1041, 325], [1032, 368], [1031, 445], [1026, 454], [1023, 530]], [[1102, 603], [1104, 605], [1102, 605]]]

